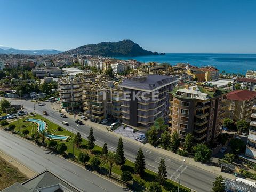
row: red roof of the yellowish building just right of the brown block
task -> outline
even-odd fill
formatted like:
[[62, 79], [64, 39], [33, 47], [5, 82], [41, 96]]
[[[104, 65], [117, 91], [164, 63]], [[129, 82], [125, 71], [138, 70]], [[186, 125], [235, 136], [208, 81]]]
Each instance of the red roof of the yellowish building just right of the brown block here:
[[235, 100], [235, 101], [249, 101], [256, 97], [255, 91], [249, 90], [235, 90], [227, 94], [228, 100]]

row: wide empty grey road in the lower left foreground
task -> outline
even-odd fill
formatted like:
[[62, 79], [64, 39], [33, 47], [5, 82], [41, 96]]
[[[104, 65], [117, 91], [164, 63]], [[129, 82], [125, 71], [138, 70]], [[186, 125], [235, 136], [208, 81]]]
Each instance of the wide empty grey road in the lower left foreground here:
[[122, 191], [122, 187], [2, 129], [0, 150], [17, 159], [30, 170], [36, 173], [50, 170], [82, 191]]

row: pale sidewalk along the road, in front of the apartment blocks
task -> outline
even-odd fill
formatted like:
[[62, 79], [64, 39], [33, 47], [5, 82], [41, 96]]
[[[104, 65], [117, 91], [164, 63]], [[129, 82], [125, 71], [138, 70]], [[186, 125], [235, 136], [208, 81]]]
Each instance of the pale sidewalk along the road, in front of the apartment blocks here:
[[[54, 109], [57, 109], [55, 108], [54, 106]], [[64, 113], [64, 112], [63, 112]], [[65, 112], [65, 114], [67, 115], [67, 117], [69, 118], [74, 118], [74, 115], [69, 115], [68, 113]], [[77, 119], [80, 119], [80, 117], [77, 115], [76, 116]], [[91, 122], [89, 120], [82, 120], [83, 123], [87, 126], [90, 126], [90, 127], [93, 127], [93, 129], [100, 129], [104, 132], [108, 132], [110, 134], [113, 134], [115, 135], [117, 138], [120, 137], [120, 134], [117, 134], [115, 132], [110, 132], [106, 129], [107, 125], [103, 125], [103, 124], [99, 124], [99, 123], [95, 123], [95, 122]], [[170, 156], [171, 158], [174, 158], [174, 159], [177, 159], [178, 161], [183, 161], [183, 159], [186, 159], [186, 163], [187, 164], [190, 164], [190, 165], [193, 165], [193, 166], [196, 166], [196, 167], [199, 167], [200, 169], [203, 169], [203, 170], [206, 170], [206, 171], [210, 171], [214, 174], [217, 174], [217, 175], [222, 175], [223, 177], [225, 178], [229, 178], [229, 179], [234, 179], [236, 178], [234, 175], [232, 174], [229, 174], [229, 173], [225, 173], [225, 172], [221, 172], [221, 169], [220, 167], [216, 167], [216, 166], [211, 166], [211, 165], [205, 165], [205, 164], [202, 164], [200, 162], [195, 162], [193, 158], [189, 158], [189, 157], [183, 157], [183, 156], [180, 156], [178, 154], [175, 154], [171, 151], [168, 151], [168, 150], [164, 150], [162, 148], [155, 148], [154, 146], [150, 145], [149, 143], [147, 144], [143, 144], [143, 143], [140, 143], [134, 139], [131, 139], [131, 138], [128, 138], [128, 137], [123, 137], [123, 140], [129, 140], [131, 142], [134, 142], [136, 145], [140, 145], [140, 146], [143, 146], [143, 147], [146, 147], [150, 150], [154, 150], [154, 151], [157, 151], [158, 153], [161, 153], [163, 155], [167, 155], [167, 156]]]

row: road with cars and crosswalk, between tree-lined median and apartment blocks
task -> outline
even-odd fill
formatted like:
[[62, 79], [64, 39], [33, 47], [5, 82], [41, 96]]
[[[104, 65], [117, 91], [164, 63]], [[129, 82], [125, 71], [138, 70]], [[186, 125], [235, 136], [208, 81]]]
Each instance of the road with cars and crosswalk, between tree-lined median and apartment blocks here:
[[[27, 111], [34, 111], [34, 103], [31, 101], [24, 101], [24, 100], [10, 100], [13, 104], [23, 104], [25, 110]], [[54, 122], [55, 124], [64, 126], [61, 124], [63, 119], [60, 117], [60, 113], [56, 110], [52, 109], [51, 103], [46, 102], [45, 106], [38, 106], [35, 105], [36, 113], [42, 114], [44, 110], [46, 110], [49, 115], [44, 116], [45, 118], [49, 119], [50, 121]], [[79, 131], [82, 137], [87, 139], [87, 135], [89, 134], [89, 126], [86, 125], [78, 125], [74, 122], [73, 118], [66, 118], [65, 121], [69, 123], [69, 126], [65, 126], [67, 130], [73, 130], [75, 133]], [[109, 150], [115, 151], [118, 143], [119, 136], [109, 134], [108, 132], [102, 131], [94, 128], [94, 137], [97, 139], [96, 143], [99, 146], [103, 146], [103, 143], [107, 143]], [[137, 145], [130, 140], [124, 140], [124, 153], [125, 157], [131, 161], [135, 160], [135, 156], [140, 145]], [[213, 174], [212, 172], [200, 169], [199, 167], [186, 164], [183, 165], [181, 161], [178, 161], [171, 156], [163, 155], [162, 153], [158, 153], [155, 150], [150, 150], [147, 146], [142, 147], [144, 151], [144, 155], [146, 158], [147, 169], [157, 172], [159, 160], [161, 158], [165, 159], [166, 166], [167, 166], [167, 175], [170, 179], [178, 182], [179, 181], [179, 173], [181, 170], [181, 184], [185, 185], [195, 191], [198, 192], [209, 192], [212, 188], [212, 182], [215, 180], [217, 175]]]

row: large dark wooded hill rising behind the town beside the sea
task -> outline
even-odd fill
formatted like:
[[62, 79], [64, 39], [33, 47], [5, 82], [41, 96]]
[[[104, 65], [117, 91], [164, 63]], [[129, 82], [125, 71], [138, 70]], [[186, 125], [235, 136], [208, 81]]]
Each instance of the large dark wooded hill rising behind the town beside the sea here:
[[[159, 55], [157, 52], [147, 51], [131, 40], [119, 42], [101, 42], [98, 44], [89, 44], [71, 49], [60, 54], [76, 55], [101, 55], [107, 57], [115, 56], [145, 56]], [[161, 53], [163, 55], [164, 53]]]

